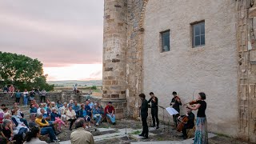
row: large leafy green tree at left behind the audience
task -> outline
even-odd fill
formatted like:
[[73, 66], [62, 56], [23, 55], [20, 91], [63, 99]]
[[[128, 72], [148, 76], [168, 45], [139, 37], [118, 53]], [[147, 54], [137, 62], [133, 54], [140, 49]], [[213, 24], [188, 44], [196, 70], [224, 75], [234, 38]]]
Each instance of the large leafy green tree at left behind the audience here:
[[31, 90], [33, 87], [53, 90], [54, 85], [47, 84], [46, 77], [38, 59], [0, 51], [0, 85], [13, 84], [20, 90]]

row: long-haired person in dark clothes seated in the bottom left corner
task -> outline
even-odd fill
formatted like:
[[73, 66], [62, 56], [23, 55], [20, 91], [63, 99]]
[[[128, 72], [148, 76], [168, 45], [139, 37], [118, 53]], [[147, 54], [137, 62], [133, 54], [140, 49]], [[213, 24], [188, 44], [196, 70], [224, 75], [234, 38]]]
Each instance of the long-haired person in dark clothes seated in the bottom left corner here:
[[22, 134], [14, 134], [10, 119], [6, 119], [3, 122], [1, 130], [2, 137], [6, 138], [7, 142], [16, 140], [17, 143], [22, 143]]

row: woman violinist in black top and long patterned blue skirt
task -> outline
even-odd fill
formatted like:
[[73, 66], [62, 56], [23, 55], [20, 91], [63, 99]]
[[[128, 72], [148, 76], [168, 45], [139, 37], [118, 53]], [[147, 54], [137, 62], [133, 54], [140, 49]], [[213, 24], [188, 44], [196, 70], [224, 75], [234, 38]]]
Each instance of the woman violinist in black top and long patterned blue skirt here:
[[195, 132], [194, 144], [208, 143], [207, 134], [207, 119], [206, 119], [206, 94], [201, 92], [198, 94], [198, 100], [195, 106], [188, 106], [191, 110], [198, 110]]

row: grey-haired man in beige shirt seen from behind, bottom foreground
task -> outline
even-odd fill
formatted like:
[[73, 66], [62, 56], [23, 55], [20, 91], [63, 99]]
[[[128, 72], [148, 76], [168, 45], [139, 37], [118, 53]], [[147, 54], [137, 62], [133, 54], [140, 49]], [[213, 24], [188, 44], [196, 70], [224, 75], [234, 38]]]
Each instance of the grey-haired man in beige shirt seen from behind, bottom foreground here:
[[78, 118], [74, 124], [77, 130], [70, 134], [71, 144], [94, 144], [93, 134], [85, 130], [86, 122], [84, 118]]

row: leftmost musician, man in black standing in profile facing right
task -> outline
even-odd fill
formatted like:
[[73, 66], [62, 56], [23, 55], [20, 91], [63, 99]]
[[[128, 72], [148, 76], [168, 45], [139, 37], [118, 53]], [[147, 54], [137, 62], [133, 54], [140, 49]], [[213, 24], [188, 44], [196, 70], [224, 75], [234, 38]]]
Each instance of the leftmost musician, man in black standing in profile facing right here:
[[144, 137], [143, 139], [149, 138], [149, 128], [147, 126], [146, 118], [147, 118], [147, 110], [148, 110], [148, 104], [146, 101], [146, 95], [145, 94], [139, 94], [139, 98], [142, 99], [142, 106], [141, 106], [141, 117], [142, 117], [142, 134], [138, 134], [139, 136]]

